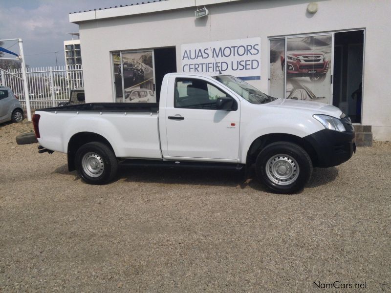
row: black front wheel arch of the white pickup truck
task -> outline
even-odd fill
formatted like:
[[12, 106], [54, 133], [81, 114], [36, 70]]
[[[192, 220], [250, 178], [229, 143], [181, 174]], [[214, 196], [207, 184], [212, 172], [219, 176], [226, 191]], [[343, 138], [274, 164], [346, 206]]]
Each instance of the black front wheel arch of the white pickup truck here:
[[258, 137], [252, 142], [252, 144], [250, 145], [247, 151], [246, 166], [251, 166], [252, 164], [255, 163], [258, 154], [261, 152], [263, 148], [265, 148], [266, 146], [272, 143], [279, 142], [279, 141], [294, 143], [297, 144], [298, 146], [303, 147], [304, 150], [309, 155], [309, 157], [311, 158], [312, 165], [313, 166], [317, 165], [318, 155], [315, 149], [313, 148], [313, 146], [311, 146], [310, 143], [305, 141], [303, 138], [287, 133], [269, 133]]

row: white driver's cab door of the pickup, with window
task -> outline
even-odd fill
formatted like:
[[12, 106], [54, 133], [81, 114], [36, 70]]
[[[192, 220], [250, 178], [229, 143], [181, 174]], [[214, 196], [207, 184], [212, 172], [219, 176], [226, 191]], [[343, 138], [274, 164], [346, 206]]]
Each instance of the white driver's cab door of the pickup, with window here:
[[[220, 97], [232, 98], [237, 109], [217, 110]], [[217, 85], [194, 78], [176, 78], [174, 99], [167, 98], [171, 100], [166, 108], [170, 157], [238, 159], [239, 101]]]

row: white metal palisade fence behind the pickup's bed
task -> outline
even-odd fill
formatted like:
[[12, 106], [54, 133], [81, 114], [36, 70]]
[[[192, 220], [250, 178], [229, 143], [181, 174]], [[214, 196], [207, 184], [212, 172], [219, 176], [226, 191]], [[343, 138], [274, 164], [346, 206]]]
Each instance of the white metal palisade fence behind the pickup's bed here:
[[[10, 87], [26, 108], [21, 69], [7, 71], [0, 69], [0, 85]], [[27, 86], [31, 109], [58, 106], [72, 89], [84, 86], [82, 65], [28, 68]]]

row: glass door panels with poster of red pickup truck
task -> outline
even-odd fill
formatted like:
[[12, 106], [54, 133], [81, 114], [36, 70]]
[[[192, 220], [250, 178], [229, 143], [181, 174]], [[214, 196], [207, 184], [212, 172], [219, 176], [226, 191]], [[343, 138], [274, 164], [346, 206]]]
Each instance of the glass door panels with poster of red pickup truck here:
[[[330, 104], [331, 35], [290, 37], [270, 43], [271, 93]], [[285, 52], [286, 48], [286, 52]]]

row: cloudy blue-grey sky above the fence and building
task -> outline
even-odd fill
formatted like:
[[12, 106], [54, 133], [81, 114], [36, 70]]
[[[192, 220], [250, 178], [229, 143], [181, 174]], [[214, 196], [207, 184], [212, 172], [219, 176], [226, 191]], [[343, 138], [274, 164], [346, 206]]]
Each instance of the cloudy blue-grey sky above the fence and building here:
[[[64, 41], [72, 40], [67, 33], [79, 31], [77, 24], [69, 22], [69, 12], [137, 2], [143, 0], [0, 0], [0, 40], [22, 39], [25, 61], [31, 67], [55, 66], [55, 52], [58, 65], [64, 65]], [[19, 54], [15, 41], [2, 46]]]

